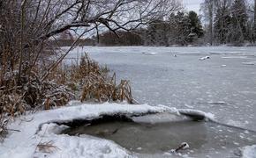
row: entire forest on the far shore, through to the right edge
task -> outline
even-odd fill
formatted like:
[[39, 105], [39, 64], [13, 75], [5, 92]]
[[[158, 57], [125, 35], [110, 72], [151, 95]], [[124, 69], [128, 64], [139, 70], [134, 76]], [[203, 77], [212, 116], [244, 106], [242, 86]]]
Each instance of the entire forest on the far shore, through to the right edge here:
[[130, 32], [101, 32], [91, 39], [98, 46], [254, 46], [253, 3], [205, 0], [200, 8], [200, 13], [181, 8], [142, 28]]

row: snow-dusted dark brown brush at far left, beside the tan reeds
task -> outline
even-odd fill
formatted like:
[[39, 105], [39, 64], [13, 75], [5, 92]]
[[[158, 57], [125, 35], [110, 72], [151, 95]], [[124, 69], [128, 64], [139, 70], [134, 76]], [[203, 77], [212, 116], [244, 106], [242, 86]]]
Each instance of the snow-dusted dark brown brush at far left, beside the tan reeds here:
[[22, 75], [19, 80], [16, 70], [3, 69], [0, 69], [0, 137], [8, 131], [6, 125], [11, 118], [25, 111], [62, 106], [74, 98], [72, 90], [67, 86], [50, 81], [42, 82], [38, 76], [39, 71]]

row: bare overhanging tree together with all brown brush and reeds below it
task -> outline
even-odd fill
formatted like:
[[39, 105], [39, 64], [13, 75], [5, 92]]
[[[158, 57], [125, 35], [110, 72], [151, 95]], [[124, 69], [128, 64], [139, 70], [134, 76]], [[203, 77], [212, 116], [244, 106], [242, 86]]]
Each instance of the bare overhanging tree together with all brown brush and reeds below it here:
[[[79, 39], [102, 27], [110, 32], [132, 31], [177, 11], [176, 0], [154, 3], [132, 0], [0, 0], [0, 135], [9, 118], [25, 111], [49, 110], [66, 104], [74, 93], [81, 101], [124, 101], [133, 103], [128, 81], [116, 83], [106, 68], [87, 55], [79, 65], [62, 68], [60, 63], [79, 46]], [[120, 18], [126, 14], [130, 18]], [[82, 32], [80, 32], [82, 30]], [[52, 40], [72, 32], [76, 39], [64, 54]], [[117, 33], [115, 33], [117, 35]], [[53, 57], [53, 58], [51, 58]]]

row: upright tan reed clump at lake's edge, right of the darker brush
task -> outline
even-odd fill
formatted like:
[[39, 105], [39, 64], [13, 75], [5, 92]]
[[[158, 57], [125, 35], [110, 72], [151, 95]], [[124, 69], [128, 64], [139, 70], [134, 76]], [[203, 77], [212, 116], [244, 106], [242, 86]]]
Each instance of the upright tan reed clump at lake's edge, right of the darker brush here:
[[94, 100], [95, 102], [127, 101], [134, 103], [132, 90], [127, 80], [117, 84], [116, 74], [109, 75], [109, 69], [101, 67], [91, 60], [87, 54], [81, 57], [80, 65], [72, 68], [70, 81], [75, 81], [82, 87], [80, 101]]

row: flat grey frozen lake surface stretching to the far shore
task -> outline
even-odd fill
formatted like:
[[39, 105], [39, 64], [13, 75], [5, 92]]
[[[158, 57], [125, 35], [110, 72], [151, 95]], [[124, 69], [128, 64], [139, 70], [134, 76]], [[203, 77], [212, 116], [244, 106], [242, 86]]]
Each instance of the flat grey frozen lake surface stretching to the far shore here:
[[83, 52], [129, 79], [139, 103], [212, 112], [256, 131], [256, 47], [79, 47], [69, 57]]

